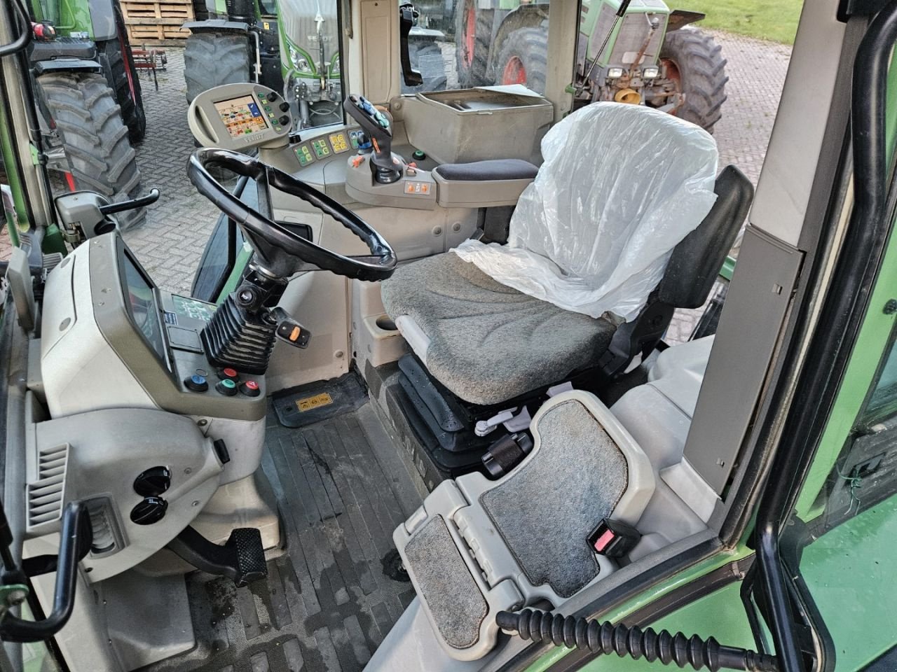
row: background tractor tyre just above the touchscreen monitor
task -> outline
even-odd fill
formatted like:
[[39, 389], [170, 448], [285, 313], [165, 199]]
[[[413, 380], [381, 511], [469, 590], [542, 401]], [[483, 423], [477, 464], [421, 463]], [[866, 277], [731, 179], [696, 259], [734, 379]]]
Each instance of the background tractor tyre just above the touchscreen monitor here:
[[249, 43], [246, 35], [232, 32], [196, 32], [184, 49], [187, 102], [222, 84], [250, 82]]

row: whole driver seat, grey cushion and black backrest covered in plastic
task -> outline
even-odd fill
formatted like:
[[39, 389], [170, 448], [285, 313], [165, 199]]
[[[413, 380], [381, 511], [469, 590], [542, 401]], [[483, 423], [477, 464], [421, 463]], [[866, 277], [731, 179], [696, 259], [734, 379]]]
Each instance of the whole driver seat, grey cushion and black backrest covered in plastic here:
[[[728, 166], [710, 207], [701, 183], [716, 172], [712, 138], [649, 108], [582, 108], [545, 136], [543, 155], [496, 263], [481, 256], [495, 244], [467, 241], [399, 267], [382, 285], [387, 313], [429, 375], [477, 406], [596, 367], [612, 379], [649, 354], [675, 308], [707, 300], [753, 199], [750, 181]], [[675, 228], [691, 232], [676, 237]], [[509, 264], [511, 280], [501, 275]], [[558, 278], [579, 286], [553, 291]], [[569, 309], [608, 287], [609, 296]]]

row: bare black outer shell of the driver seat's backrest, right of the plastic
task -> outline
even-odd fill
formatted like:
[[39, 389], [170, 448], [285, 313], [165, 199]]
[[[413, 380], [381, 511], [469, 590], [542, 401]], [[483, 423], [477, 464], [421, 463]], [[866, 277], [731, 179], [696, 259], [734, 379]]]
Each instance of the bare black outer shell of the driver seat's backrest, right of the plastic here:
[[753, 201], [753, 185], [735, 166], [727, 166], [717, 177], [713, 191], [717, 201], [688, 236], [673, 249], [658, 287], [658, 300], [677, 308], [704, 305], [735, 244], [738, 230]]

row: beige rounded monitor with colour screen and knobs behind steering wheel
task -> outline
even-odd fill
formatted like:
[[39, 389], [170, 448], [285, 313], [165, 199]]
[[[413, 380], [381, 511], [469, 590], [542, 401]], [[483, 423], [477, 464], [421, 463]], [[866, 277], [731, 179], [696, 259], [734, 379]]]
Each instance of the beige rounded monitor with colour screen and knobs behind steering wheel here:
[[234, 151], [283, 146], [292, 131], [290, 103], [277, 91], [251, 82], [203, 91], [190, 103], [187, 122], [204, 147]]

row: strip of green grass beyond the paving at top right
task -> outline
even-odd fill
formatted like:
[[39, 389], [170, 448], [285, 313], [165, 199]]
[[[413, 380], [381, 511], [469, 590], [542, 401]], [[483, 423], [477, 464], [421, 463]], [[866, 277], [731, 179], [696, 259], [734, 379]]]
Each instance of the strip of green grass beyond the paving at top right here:
[[[813, 2], [813, 0], [807, 0]], [[699, 25], [794, 44], [803, 0], [668, 0], [670, 9], [707, 14]]]

